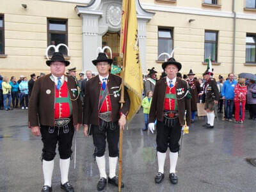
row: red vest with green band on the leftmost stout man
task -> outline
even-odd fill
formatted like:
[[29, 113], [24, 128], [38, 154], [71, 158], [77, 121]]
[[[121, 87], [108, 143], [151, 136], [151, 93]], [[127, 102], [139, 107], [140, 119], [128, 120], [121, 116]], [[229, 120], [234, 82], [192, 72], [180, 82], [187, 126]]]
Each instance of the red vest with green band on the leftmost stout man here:
[[68, 118], [72, 115], [72, 104], [68, 94], [67, 82], [61, 85], [57, 90], [55, 85], [55, 108], [54, 118]]

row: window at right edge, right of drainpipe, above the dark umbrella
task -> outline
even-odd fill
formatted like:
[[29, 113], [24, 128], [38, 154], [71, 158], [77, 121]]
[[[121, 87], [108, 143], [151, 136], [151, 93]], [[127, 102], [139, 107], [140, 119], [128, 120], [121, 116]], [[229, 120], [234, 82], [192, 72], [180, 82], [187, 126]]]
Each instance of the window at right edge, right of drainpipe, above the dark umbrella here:
[[256, 48], [256, 35], [246, 35], [246, 63], [256, 63], [255, 60], [255, 48]]

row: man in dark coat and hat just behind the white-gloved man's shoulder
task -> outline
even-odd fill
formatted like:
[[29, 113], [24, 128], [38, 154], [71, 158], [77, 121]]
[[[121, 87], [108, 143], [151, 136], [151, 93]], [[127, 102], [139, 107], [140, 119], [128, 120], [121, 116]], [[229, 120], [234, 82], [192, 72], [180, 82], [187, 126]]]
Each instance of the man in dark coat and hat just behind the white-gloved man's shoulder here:
[[191, 123], [195, 122], [195, 113], [197, 111], [198, 94], [200, 93], [200, 83], [195, 79], [192, 69], [188, 74], [189, 91], [191, 93]]

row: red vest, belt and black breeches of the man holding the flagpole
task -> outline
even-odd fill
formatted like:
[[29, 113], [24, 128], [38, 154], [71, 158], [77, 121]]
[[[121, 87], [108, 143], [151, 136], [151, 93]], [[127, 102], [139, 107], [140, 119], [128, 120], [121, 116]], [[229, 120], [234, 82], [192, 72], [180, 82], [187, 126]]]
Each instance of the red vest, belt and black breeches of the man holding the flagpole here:
[[106, 139], [108, 141], [109, 157], [118, 156], [119, 125], [118, 122], [112, 122], [112, 106], [108, 86], [105, 90], [100, 88], [99, 125], [92, 125], [92, 136], [95, 146], [93, 156], [104, 156]]

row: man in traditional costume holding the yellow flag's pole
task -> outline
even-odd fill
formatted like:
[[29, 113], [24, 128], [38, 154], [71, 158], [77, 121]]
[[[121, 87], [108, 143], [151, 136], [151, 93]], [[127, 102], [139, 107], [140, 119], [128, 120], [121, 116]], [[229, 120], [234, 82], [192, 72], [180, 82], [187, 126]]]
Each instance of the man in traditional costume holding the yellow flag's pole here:
[[[108, 182], [118, 186], [116, 177], [116, 163], [118, 160], [119, 131], [124, 129], [126, 116], [130, 107], [129, 95], [124, 90], [125, 103], [120, 109], [120, 94], [122, 79], [109, 73], [113, 60], [108, 59], [104, 52], [100, 52], [97, 60], [93, 60], [97, 67], [98, 76], [86, 82], [84, 95], [84, 134], [88, 136], [88, 127], [92, 130], [95, 145], [95, 159], [99, 168], [100, 179], [97, 189], [102, 191], [106, 187], [106, 139], [109, 149], [109, 177]], [[122, 188], [124, 184], [122, 183]]]

